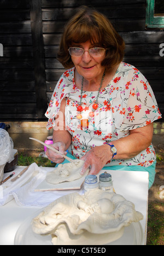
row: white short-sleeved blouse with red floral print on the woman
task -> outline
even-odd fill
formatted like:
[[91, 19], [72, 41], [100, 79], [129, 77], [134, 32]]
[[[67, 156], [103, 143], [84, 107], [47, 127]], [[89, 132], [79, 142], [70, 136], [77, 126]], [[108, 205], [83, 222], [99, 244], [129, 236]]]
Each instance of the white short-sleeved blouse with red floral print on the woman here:
[[[83, 91], [81, 115], [86, 127], [82, 127], [81, 121], [77, 119], [81, 90], [75, 85], [74, 71], [75, 68], [68, 69], [58, 80], [45, 115], [49, 118], [47, 125], [49, 130], [55, 126], [55, 116], [60, 110], [62, 99], [66, 99], [65, 123], [72, 135], [72, 144], [68, 150], [75, 158], [81, 158], [93, 147], [126, 137], [130, 134], [130, 130], [161, 118], [147, 79], [137, 68], [121, 62], [113, 79], [99, 92], [98, 109], [90, 119], [89, 112], [92, 111], [92, 104], [98, 91]], [[153, 164], [155, 159], [155, 150], [150, 144], [137, 156], [128, 160], [112, 159], [106, 166], [147, 167]]]

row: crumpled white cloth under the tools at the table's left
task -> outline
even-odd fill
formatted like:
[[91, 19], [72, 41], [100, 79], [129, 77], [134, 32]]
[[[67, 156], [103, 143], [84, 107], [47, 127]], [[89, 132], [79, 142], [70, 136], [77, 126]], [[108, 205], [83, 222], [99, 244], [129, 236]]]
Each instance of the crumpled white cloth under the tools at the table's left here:
[[[24, 168], [25, 167], [17, 166], [14, 170], [15, 175], [12, 178], [17, 176]], [[0, 186], [0, 206], [15, 199], [19, 206], [44, 207], [55, 201], [58, 197], [73, 192], [73, 190], [35, 191], [38, 185], [44, 181], [48, 171], [52, 171], [52, 168], [38, 167], [36, 163], [33, 163], [15, 182], [11, 182], [12, 178], [10, 178]], [[3, 179], [7, 178], [10, 174], [11, 173], [5, 173]]]

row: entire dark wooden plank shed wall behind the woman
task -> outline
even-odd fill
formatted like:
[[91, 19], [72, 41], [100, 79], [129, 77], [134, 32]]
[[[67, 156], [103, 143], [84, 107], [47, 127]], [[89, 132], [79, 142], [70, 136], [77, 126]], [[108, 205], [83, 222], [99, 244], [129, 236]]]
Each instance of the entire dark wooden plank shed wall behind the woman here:
[[105, 14], [124, 38], [124, 61], [149, 80], [164, 116], [164, 57], [159, 54], [164, 31], [145, 30], [146, 0], [3, 0], [1, 120], [46, 120], [46, 106], [65, 71], [56, 60], [63, 27], [75, 7], [88, 2]]

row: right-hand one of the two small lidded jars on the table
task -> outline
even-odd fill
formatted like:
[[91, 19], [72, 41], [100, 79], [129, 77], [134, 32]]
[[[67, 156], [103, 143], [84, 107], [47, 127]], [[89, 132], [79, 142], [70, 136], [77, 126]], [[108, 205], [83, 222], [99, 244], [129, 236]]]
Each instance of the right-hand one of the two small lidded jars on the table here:
[[113, 193], [113, 182], [111, 174], [104, 172], [99, 175], [99, 189]]

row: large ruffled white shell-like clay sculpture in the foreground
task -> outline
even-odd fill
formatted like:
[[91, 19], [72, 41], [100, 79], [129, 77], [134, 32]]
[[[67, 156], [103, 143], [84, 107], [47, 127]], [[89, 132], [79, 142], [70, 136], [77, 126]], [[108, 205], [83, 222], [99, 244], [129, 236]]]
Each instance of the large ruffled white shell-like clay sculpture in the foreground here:
[[54, 245], [99, 245], [117, 240], [124, 227], [143, 219], [121, 195], [100, 189], [60, 197], [32, 220], [36, 234], [51, 235]]

